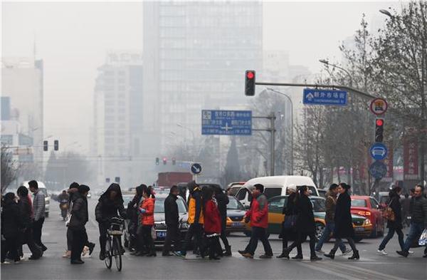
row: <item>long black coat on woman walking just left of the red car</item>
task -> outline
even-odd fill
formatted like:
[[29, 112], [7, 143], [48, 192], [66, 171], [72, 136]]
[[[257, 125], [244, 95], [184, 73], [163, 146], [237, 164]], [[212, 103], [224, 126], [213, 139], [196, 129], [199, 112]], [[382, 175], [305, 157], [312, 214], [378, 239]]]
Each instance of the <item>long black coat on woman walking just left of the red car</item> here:
[[334, 217], [334, 236], [337, 238], [354, 237], [351, 207], [352, 199], [348, 192], [340, 194], [337, 199]]

